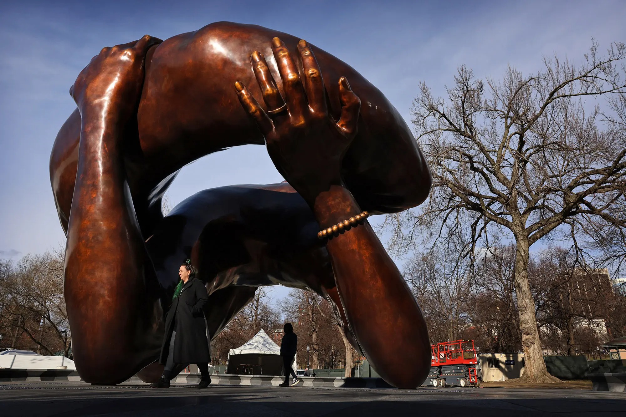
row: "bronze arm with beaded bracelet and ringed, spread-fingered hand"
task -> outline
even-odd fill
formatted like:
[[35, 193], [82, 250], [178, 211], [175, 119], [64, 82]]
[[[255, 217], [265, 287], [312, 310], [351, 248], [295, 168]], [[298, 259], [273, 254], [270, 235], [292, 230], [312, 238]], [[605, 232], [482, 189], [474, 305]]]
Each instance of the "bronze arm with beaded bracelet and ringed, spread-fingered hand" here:
[[[235, 89], [264, 135], [274, 165], [326, 229], [361, 213], [341, 175], [342, 159], [357, 133], [361, 101], [342, 77], [341, 116], [332, 118], [312, 48], [300, 41], [298, 50], [302, 81], [289, 49], [279, 38], [272, 41], [284, 98], [264, 56], [252, 54], [267, 111], [244, 83], [238, 81]], [[325, 238], [326, 247], [352, 332], [382, 378], [399, 388], [415, 388], [430, 368], [428, 331], [418, 304], [366, 220], [333, 234]]]

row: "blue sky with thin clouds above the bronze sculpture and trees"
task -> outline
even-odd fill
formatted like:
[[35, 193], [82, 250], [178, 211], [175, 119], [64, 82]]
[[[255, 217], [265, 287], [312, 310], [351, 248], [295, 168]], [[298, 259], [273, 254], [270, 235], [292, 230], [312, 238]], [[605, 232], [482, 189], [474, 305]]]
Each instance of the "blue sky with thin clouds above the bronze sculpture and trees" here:
[[[94, 4], [92, 4], [94, 3]], [[591, 38], [626, 41], [624, 1], [4, 1], [0, 6], [0, 258], [63, 242], [49, 183], [54, 137], [73, 111], [68, 89], [103, 46], [166, 39], [214, 21], [254, 23], [307, 39], [356, 68], [409, 122], [418, 82], [437, 95], [457, 66], [498, 78], [540, 70], [556, 52], [579, 61]], [[205, 188], [282, 178], [249, 145], [183, 168], [174, 205]]]

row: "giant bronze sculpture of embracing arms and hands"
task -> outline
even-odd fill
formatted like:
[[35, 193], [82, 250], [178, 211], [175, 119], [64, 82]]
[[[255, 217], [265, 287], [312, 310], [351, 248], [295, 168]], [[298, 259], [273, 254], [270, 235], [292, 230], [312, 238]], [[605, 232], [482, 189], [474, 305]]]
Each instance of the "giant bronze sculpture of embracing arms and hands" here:
[[[59, 131], [50, 173], [85, 381], [120, 383], [144, 367], [140, 376], [158, 377], [148, 365], [158, 357], [162, 304], [177, 281], [172, 265], [186, 257], [207, 282], [213, 336], [256, 287], [305, 287], [334, 304], [386, 381], [423, 381], [421, 311], [369, 224], [351, 217], [418, 205], [430, 173], [406, 123], [361, 75], [288, 34], [214, 23], [104, 48], [71, 94], [78, 108]], [[264, 136], [289, 184], [205, 190], [163, 218], [178, 169]], [[329, 227], [336, 236], [318, 239]]]

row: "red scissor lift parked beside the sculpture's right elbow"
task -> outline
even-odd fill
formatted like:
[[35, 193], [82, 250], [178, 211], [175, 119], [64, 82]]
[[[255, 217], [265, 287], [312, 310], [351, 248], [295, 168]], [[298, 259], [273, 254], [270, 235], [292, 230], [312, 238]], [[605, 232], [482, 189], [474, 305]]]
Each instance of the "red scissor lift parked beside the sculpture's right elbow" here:
[[476, 349], [473, 340], [455, 340], [431, 345], [431, 371], [424, 385], [475, 386]]

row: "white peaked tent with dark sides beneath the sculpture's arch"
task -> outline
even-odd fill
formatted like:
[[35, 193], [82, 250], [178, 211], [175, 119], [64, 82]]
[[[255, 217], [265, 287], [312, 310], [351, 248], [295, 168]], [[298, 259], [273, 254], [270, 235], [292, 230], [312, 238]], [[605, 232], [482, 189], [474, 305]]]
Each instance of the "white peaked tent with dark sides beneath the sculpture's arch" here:
[[[294, 361], [295, 363], [297, 361]], [[242, 346], [230, 349], [226, 368], [228, 374], [280, 375], [282, 374], [280, 346], [260, 329]]]

